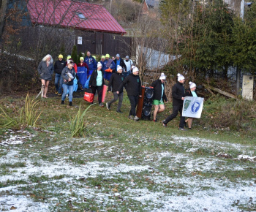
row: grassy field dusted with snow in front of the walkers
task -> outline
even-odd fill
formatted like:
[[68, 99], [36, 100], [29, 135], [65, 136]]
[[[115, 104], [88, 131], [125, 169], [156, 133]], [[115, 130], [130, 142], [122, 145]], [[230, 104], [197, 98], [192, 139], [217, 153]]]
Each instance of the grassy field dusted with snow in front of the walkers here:
[[[4, 98], [18, 116], [25, 98]], [[71, 138], [79, 105], [42, 100], [38, 126], [0, 129], [0, 211], [256, 211], [255, 139], [238, 131], [193, 124], [178, 131], [178, 118], [159, 122], [127, 118], [93, 105], [91, 135]], [[203, 116], [205, 116], [203, 114]]]

